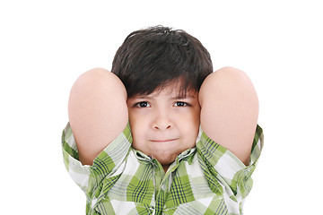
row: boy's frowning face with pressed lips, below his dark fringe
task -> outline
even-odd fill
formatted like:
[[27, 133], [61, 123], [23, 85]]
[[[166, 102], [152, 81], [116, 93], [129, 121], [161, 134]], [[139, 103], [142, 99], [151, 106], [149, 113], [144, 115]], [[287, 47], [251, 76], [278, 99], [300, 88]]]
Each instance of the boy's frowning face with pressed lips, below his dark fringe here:
[[179, 97], [179, 84], [127, 99], [133, 147], [157, 159], [164, 169], [180, 152], [195, 147], [200, 125], [198, 92]]

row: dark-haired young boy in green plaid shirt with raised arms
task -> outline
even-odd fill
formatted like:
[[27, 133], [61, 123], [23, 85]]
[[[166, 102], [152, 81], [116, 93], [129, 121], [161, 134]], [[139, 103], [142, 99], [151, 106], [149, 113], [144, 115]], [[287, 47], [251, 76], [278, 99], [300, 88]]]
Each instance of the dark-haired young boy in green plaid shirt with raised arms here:
[[86, 213], [241, 214], [263, 145], [248, 76], [162, 26], [131, 33], [111, 72], [77, 79], [62, 137]]

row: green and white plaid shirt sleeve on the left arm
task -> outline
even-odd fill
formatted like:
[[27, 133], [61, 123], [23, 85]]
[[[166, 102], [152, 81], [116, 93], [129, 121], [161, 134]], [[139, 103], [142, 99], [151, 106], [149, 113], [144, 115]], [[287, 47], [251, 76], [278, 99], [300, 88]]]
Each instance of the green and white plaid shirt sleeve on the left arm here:
[[94, 159], [92, 166], [83, 165], [79, 160], [77, 145], [68, 123], [62, 133], [65, 168], [76, 185], [79, 185], [83, 192], [89, 196], [103, 178], [112, 176], [118, 170], [127, 157], [131, 143], [132, 135], [128, 124], [124, 131], [100, 152], [98, 157]]

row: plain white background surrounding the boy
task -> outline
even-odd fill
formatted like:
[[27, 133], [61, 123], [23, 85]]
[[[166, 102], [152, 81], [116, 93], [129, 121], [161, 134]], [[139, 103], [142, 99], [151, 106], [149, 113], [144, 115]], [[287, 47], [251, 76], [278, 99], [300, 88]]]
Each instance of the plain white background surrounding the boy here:
[[[319, 1], [1, 1], [1, 214], [84, 214], [60, 136], [75, 79], [111, 68], [127, 35], [162, 24], [249, 74], [265, 148], [245, 214], [322, 213]], [[4, 212], [5, 211], [5, 212]]]

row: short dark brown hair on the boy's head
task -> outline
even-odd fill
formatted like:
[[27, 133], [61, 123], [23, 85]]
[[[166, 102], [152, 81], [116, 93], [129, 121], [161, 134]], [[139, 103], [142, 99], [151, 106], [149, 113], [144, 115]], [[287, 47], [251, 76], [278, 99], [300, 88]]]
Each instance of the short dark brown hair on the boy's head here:
[[125, 84], [127, 96], [148, 95], [172, 82], [198, 91], [213, 73], [210, 54], [184, 30], [156, 26], [130, 33], [114, 57], [112, 73]]

